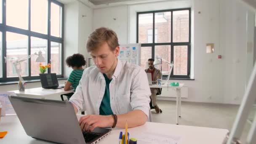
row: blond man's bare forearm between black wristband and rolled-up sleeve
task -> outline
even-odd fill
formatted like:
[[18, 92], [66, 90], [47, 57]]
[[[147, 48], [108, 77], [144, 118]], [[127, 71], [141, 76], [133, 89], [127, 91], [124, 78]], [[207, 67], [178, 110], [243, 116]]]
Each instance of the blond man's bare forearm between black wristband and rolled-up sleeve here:
[[133, 110], [123, 115], [117, 115], [117, 128], [125, 128], [127, 120], [128, 128], [144, 125], [147, 121], [147, 115], [141, 110]]

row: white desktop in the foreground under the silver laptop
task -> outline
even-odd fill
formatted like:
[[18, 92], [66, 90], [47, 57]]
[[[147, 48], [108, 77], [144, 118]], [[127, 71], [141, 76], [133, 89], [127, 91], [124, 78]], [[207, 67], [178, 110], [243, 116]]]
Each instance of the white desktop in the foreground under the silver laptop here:
[[[16, 115], [1, 117], [0, 131], [8, 131], [1, 144], [49, 144], [27, 136]], [[124, 129], [114, 129], [111, 134], [97, 144], [117, 144], [119, 132]], [[129, 128], [130, 138], [139, 139], [144, 132], [180, 136], [179, 144], [222, 144], [228, 130], [218, 128], [204, 128], [187, 125], [171, 125], [164, 123], [150, 123]], [[160, 143], [152, 143], [160, 144]]]

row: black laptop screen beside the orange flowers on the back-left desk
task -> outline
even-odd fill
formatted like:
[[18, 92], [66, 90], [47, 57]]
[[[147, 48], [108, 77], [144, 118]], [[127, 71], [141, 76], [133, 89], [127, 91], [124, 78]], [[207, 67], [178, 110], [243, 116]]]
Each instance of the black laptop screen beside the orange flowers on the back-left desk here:
[[40, 74], [40, 80], [43, 88], [51, 88], [51, 87], [59, 86], [56, 73]]

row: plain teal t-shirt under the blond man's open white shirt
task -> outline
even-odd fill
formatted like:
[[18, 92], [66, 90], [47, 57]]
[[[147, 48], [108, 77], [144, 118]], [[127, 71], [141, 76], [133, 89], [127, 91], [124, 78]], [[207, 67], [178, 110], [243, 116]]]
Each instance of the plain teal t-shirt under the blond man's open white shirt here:
[[107, 75], [103, 74], [106, 80], [106, 89], [101, 101], [101, 105], [99, 107], [99, 115], [113, 115], [111, 106], [110, 106], [110, 93], [109, 93], [109, 83], [111, 80], [107, 77]]

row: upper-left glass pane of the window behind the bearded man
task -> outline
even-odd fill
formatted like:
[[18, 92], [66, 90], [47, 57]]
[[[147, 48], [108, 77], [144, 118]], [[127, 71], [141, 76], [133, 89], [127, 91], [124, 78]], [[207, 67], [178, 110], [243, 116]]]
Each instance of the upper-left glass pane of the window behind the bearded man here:
[[[152, 31], [152, 29], [153, 13], [139, 14], [139, 43], [152, 43], [153, 33], [150, 34], [150, 31]], [[148, 37], [150, 35], [151, 37]]]

